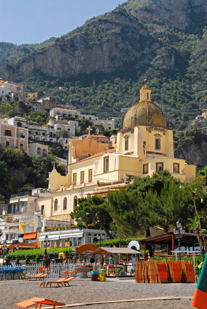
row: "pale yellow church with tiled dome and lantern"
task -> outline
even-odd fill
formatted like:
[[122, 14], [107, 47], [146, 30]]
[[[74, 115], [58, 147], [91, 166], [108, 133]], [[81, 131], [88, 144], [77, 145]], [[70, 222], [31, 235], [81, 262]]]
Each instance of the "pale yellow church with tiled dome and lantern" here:
[[[168, 169], [182, 181], [195, 178], [195, 165], [174, 158], [173, 132], [167, 129], [166, 118], [151, 101], [151, 90], [147, 81], [144, 82], [140, 100], [127, 110], [113, 149], [93, 140], [90, 132], [86, 139], [71, 139], [66, 144], [69, 148], [67, 176], [61, 176], [54, 168], [48, 180], [49, 188], [55, 192], [36, 201], [36, 211], [44, 209], [44, 218], [64, 220], [64, 215], [70, 216], [77, 205], [77, 198], [104, 196], [109, 190], [126, 187], [136, 176], [151, 176]], [[97, 231], [90, 232], [93, 242]], [[43, 233], [42, 239], [46, 234]], [[82, 239], [82, 242], [88, 240]]]

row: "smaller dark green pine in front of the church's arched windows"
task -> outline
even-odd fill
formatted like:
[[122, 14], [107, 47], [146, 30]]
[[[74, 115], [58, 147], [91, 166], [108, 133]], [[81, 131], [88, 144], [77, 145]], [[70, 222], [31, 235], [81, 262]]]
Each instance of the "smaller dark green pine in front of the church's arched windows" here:
[[88, 199], [79, 198], [77, 202], [78, 205], [71, 212], [71, 218], [78, 222], [78, 226], [83, 227], [95, 223], [107, 233], [108, 237], [113, 238], [109, 232], [112, 218], [106, 211], [104, 198], [93, 195]]

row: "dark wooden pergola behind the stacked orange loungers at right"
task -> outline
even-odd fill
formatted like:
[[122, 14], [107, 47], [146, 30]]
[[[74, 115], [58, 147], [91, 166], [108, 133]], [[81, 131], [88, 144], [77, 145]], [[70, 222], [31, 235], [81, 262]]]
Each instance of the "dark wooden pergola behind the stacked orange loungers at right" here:
[[[202, 235], [203, 240], [205, 243], [205, 253], [206, 253], [206, 245], [207, 245], [207, 235]], [[172, 255], [170, 254], [170, 245], [172, 246], [172, 251], [175, 250], [175, 245], [178, 244], [178, 238], [175, 237], [173, 232], [168, 232], [165, 234], [160, 234], [157, 236], [152, 236], [148, 238], [144, 238], [140, 240], [140, 243], [144, 244], [144, 260], [146, 260], [146, 244], [147, 243], [159, 243], [159, 244], [166, 244], [167, 245], [167, 255]], [[198, 238], [194, 234], [190, 233], [184, 233], [183, 237], [180, 238], [180, 245], [182, 246], [192, 246], [193, 251], [194, 251], [194, 246], [195, 244], [198, 244]]]

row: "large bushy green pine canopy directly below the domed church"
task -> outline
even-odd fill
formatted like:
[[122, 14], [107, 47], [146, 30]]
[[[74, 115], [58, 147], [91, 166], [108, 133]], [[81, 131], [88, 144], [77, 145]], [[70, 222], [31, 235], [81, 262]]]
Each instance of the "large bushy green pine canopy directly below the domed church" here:
[[106, 209], [113, 218], [114, 230], [123, 237], [137, 231], [146, 231], [148, 237], [150, 227], [168, 232], [179, 219], [185, 224], [193, 214], [190, 195], [169, 171], [137, 177], [126, 189], [108, 193]]

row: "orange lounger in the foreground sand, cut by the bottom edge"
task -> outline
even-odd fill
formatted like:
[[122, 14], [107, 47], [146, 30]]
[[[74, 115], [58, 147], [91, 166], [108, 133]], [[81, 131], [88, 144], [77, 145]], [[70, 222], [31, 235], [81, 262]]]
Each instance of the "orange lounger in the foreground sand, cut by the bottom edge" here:
[[41, 309], [42, 304], [53, 306], [53, 309], [56, 306], [65, 306], [65, 304], [57, 302], [55, 300], [50, 300], [50, 299], [45, 299], [45, 298], [40, 298], [40, 297], [32, 297], [32, 298], [24, 300], [23, 302], [17, 303], [15, 305], [18, 307], [22, 307], [22, 309], [29, 308], [32, 306], [35, 306], [35, 309], [37, 309], [38, 304], [40, 304], [39, 309]]

